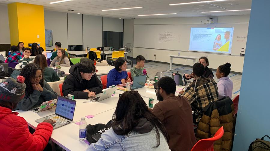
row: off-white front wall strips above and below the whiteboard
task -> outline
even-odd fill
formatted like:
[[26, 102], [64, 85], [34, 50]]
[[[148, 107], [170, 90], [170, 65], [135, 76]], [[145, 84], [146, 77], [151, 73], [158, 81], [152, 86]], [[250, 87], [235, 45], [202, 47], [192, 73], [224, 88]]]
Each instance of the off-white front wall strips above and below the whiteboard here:
[[[140, 24], [198, 24], [205, 17], [184, 17], [184, 18], [166, 18], [166, 19], [136, 19], [134, 20], [134, 25]], [[218, 16], [218, 23], [231, 24], [243, 24], [246, 25], [249, 22], [249, 15], [242, 16]], [[226, 25], [227, 26], [227, 25]], [[143, 38], [143, 37], [141, 37]], [[188, 37], [189, 38], [189, 37]], [[134, 38], [135, 39], [135, 38]], [[166, 56], [169, 54], [178, 54], [178, 51], [172, 50], [158, 50], [158, 49], [148, 49], [148, 48], [138, 48], [133, 47], [133, 58], [138, 55], [145, 56], [146, 59], [155, 60], [154, 54], [156, 54], [156, 61], [170, 62], [170, 57]], [[222, 55], [214, 53], [199, 53], [199, 52], [189, 52], [181, 51], [183, 56], [207, 56], [209, 59], [209, 67], [216, 69], [218, 66], [229, 62], [232, 64], [231, 70], [235, 72], [242, 72], [244, 57], [238, 55]], [[240, 55], [240, 54], [239, 54]], [[173, 63], [193, 65], [193, 61], [184, 59], [173, 59]]]

